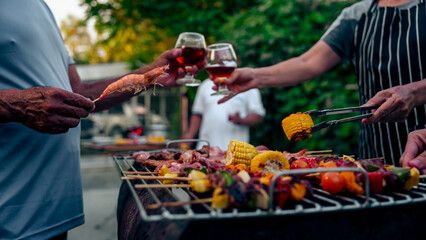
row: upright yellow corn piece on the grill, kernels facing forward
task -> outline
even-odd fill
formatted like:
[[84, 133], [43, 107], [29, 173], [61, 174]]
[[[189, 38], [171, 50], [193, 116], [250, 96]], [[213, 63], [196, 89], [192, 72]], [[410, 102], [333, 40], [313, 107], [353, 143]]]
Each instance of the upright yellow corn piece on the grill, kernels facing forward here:
[[232, 140], [226, 151], [226, 165], [245, 164], [250, 166], [251, 160], [257, 155], [256, 148], [245, 142]]

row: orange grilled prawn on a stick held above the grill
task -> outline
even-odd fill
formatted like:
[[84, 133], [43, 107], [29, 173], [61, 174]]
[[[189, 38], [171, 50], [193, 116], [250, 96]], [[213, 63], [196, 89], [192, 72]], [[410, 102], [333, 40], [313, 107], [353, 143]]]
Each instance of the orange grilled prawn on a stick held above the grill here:
[[139, 93], [140, 91], [146, 89], [146, 87], [150, 84], [161, 85], [157, 83], [157, 80], [160, 77], [167, 76], [168, 73], [166, 71], [169, 69], [169, 65], [165, 65], [162, 67], [154, 68], [149, 72], [144, 74], [129, 74], [126, 75], [119, 80], [111, 83], [107, 86], [107, 88], [103, 91], [101, 96], [93, 102], [96, 102], [111, 93], [114, 92], [123, 92], [126, 90], [134, 90], [134, 94]]

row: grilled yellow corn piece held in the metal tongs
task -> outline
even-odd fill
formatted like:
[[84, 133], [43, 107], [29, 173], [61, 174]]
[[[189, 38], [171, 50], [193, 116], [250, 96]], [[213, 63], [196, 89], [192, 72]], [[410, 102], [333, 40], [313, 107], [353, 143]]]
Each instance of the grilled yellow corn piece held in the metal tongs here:
[[307, 113], [291, 114], [282, 120], [281, 125], [290, 141], [305, 140], [312, 137], [311, 129], [314, 122]]

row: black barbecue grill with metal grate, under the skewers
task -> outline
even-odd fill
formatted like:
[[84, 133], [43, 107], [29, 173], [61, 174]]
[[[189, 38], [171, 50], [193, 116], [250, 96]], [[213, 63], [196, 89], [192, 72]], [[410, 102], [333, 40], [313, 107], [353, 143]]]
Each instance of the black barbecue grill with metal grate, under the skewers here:
[[[145, 166], [135, 165], [134, 159], [129, 156], [115, 156], [114, 160], [123, 176], [128, 170], [150, 171]], [[341, 168], [334, 170], [344, 171]], [[292, 173], [312, 171], [306, 169]], [[359, 169], [347, 171], [363, 172]], [[283, 171], [278, 175], [287, 173]], [[426, 226], [425, 183], [420, 183], [411, 191], [371, 195], [368, 189], [365, 189], [365, 195], [332, 195], [314, 187], [313, 196], [283, 209], [270, 204], [268, 210], [216, 210], [206, 203], [149, 210], [146, 206], [152, 203], [197, 200], [207, 196], [195, 195], [186, 188], [136, 189], [135, 184], [161, 182], [123, 181], [118, 206], [121, 238], [409, 239], [422, 233], [422, 226]], [[366, 185], [368, 188], [368, 183]], [[132, 215], [131, 219], [129, 214]]]

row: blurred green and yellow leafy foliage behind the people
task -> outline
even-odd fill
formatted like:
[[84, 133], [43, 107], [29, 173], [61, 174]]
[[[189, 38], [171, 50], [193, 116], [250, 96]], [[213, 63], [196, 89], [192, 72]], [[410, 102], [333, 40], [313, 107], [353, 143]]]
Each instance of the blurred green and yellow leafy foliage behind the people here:
[[[80, 51], [77, 60], [125, 60], [134, 68], [173, 48], [179, 33], [193, 31], [204, 34], [207, 44], [235, 43], [241, 66], [269, 66], [307, 51], [342, 9], [354, 2], [82, 0], [81, 5], [87, 7], [87, 18], [77, 25], [84, 27], [87, 21], [95, 19], [99, 40]], [[207, 74], [200, 72], [199, 78], [205, 77]], [[195, 92], [196, 89], [188, 88], [191, 100]], [[261, 93], [267, 115], [263, 123], [251, 129], [252, 144], [291, 152], [308, 148], [357, 154], [358, 123], [325, 129], [311, 139], [295, 143], [281, 129], [281, 120], [291, 113], [358, 105], [356, 80], [349, 64], [343, 62], [299, 86], [261, 89]], [[322, 120], [315, 118], [314, 122]]]

